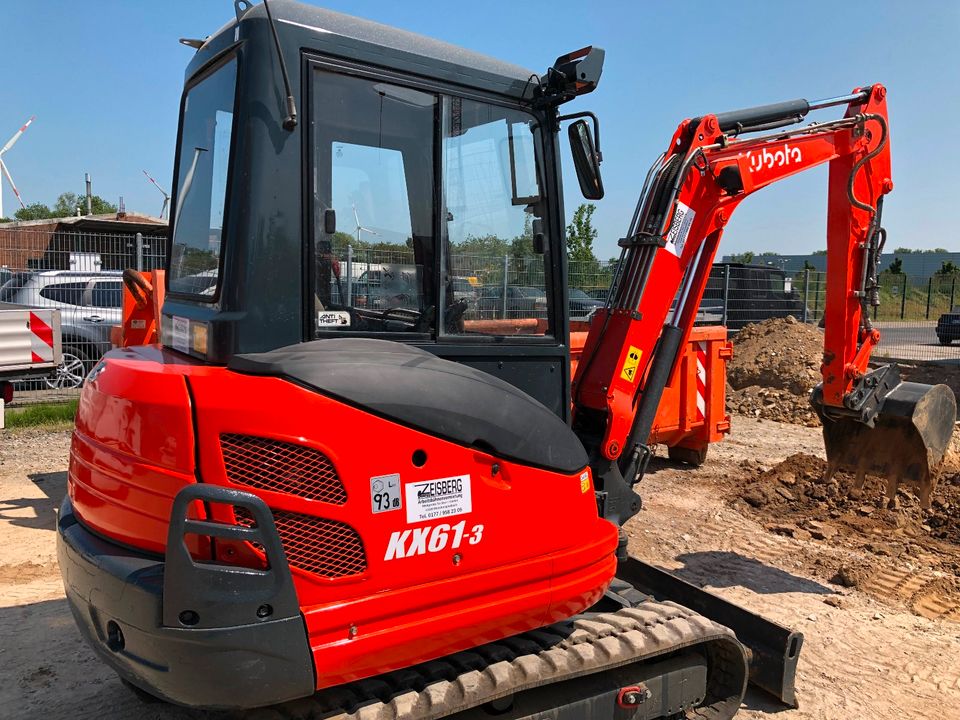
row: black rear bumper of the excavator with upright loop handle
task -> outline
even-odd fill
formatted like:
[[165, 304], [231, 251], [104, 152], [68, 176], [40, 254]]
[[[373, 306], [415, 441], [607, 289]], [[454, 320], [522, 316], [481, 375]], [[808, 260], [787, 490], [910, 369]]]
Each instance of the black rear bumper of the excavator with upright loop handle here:
[[313, 658], [282, 549], [263, 572], [194, 563], [182, 535], [207, 523], [177, 514], [195, 499], [248, 506], [269, 552], [280, 547], [269, 510], [247, 493], [197, 487], [177, 497], [166, 562], [89, 532], [64, 499], [57, 555], [80, 632], [121, 678], [181, 705], [250, 708], [312, 694]]

